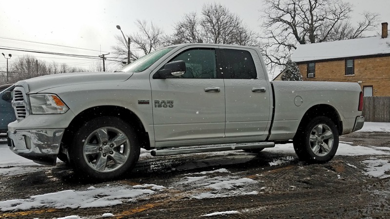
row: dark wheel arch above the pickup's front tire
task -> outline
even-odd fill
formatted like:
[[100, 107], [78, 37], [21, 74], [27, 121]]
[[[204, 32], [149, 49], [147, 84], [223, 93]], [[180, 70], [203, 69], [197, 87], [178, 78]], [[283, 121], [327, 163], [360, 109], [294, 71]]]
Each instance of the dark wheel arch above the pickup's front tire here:
[[115, 116], [127, 122], [137, 132], [140, 147], [149, 149], [150, 139], [139, 117], [133, 111], [119, 106], [96, 106], [78, 113], [65, 129], [61, 146], [67, 148], [72, 142], [73, 135], [85, 122], [100, 116]]

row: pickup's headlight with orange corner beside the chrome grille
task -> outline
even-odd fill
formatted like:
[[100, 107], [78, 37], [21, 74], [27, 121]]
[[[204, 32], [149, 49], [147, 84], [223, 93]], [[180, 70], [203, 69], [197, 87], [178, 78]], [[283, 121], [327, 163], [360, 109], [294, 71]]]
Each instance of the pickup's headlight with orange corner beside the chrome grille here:
[[69, 110], [55, 94], [32, 94], [29, 98], [32, 114], [63, 114]]

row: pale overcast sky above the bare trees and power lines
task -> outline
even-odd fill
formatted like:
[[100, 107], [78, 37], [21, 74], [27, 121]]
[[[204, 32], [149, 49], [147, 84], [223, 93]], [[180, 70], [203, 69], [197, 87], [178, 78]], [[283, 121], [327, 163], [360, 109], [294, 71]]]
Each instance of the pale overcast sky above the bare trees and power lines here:
[[[363, 11], [376, 12], [381, 21], [390, 23], [390, 0], [348, 0], [354, 4], [352, 20], [359, 20]], [[152, 20], [172, 33], [173, 25], [184, 13], [200, 13], [202, 5], [210, 0], [1, 0], [0, 3], [0, 48], [17, 47], [21, 49], [59, 52], [78, 55], [108, 53], [115, 45], [115, 35], [120, 34], [116, 25], [120, 25], [124, 34], [137, 30], [136, 19]], [[254, 31], [259, 27], [261, 0], [220, 0], [215, 1], [227, 6], [238, 14]], [[378, 30], [370, 35], [376, 35]], [[11, 39], [10, 39], [11, 38]], [[63, 46], [37, 44], [13, 39], [50, 43]], [[91, 51], [96, 50], [96, 51]], [[12, 62], [25, 52], [0, 49], [0, 53], [12, 54]], [[47, 55], [28, 53], [39, 59]], [[54, 60], [68, 65], [88, 68], [93, 60], [73, 57], [53, 56]], [[0, 71], [5, 70], [6, 60], [0, 57]]]

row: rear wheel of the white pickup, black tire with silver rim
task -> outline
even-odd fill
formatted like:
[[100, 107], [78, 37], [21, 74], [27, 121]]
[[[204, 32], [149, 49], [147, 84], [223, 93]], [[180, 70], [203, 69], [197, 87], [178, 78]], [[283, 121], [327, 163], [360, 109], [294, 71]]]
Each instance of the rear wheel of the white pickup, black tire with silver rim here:
[[318, 116], [299, 127], [293, 139], [296, 155], [308, 163], [325, 163], [336, 154], [339, 143], [334, 123], [325, 116]]

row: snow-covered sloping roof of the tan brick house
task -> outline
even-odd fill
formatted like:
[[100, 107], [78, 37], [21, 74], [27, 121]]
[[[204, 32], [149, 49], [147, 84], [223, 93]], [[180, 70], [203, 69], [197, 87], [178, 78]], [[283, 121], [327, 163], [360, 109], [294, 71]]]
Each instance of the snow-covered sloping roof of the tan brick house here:
[[390, 54], [390, 37], [365, 37], [298, 45], [291, 59], [304, 62], [364, 55]]

